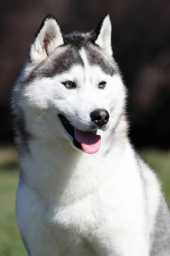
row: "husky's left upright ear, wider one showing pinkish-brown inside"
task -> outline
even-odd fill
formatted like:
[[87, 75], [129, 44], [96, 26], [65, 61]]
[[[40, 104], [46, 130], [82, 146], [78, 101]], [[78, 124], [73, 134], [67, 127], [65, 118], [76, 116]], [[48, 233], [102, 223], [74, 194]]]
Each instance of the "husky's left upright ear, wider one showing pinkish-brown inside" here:
[[48, 14], [31, 45], [30, 61], [39, 63], [48, 57], [58, 46], [64, 44], [62, 32], [56, 18]]

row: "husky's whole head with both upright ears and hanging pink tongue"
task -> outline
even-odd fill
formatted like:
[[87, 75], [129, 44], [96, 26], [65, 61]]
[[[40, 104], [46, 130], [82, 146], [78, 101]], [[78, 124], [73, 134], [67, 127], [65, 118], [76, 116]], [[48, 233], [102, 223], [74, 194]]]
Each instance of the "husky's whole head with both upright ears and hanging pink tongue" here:
[[112, 57], [109, 15], [102, 16], [95, 31], [69, 35], [62, 35], [57, 20], [48, 15], [31, 46], [23, 80], [24, 85], [18, 83], [23, 87], [20, 108], [33, 137], [63, 137], [96, 153], [97, 134], [116, 125], [125, 102]]

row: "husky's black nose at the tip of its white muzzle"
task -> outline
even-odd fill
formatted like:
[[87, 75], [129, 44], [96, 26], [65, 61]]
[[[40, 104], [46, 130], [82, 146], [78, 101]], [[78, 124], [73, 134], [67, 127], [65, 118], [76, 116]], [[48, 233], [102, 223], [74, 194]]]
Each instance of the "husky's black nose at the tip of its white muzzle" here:
[[98, 126], [107, 124], [109, 117], [109, 113], [105, 109], [97, 109], [91, 112], [91, 120], [95, 122]]

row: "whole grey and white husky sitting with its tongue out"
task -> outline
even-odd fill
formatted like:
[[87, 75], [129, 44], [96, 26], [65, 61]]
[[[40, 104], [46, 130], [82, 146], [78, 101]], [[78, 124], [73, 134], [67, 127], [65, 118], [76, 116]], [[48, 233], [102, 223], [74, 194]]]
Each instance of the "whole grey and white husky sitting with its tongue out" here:
[[45, 17], [11, 93], [29, 256], [170, 255], [170, 212], [128, 139], [126, 95], [108, 13], [66, 35]]

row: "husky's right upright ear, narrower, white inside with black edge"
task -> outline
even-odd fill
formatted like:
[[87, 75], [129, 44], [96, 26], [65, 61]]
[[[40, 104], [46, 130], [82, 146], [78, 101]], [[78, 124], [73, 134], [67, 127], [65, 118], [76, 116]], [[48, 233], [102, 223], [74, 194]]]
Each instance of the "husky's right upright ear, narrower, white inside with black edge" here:
[[111, 20], [108, 12], [102, 15], [99, 24], [96, 27], [95, 44], [107, 52], [108, 55], [112, 55]]

